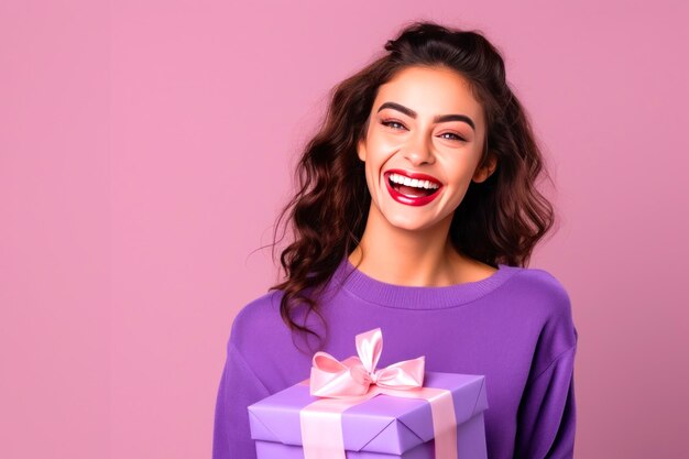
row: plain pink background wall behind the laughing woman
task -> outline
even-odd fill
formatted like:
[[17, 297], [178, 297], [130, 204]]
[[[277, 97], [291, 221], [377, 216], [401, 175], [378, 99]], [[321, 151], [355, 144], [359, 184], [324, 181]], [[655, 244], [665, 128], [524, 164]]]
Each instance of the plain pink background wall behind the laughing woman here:
[[681, 456], [682, 2], [237, 3], [0, 3], [0, 457], [210, 457], [298, 149], [413, 19], [486, 33], [548, 155], [531, 266], [572, 299], [576, 456]]

